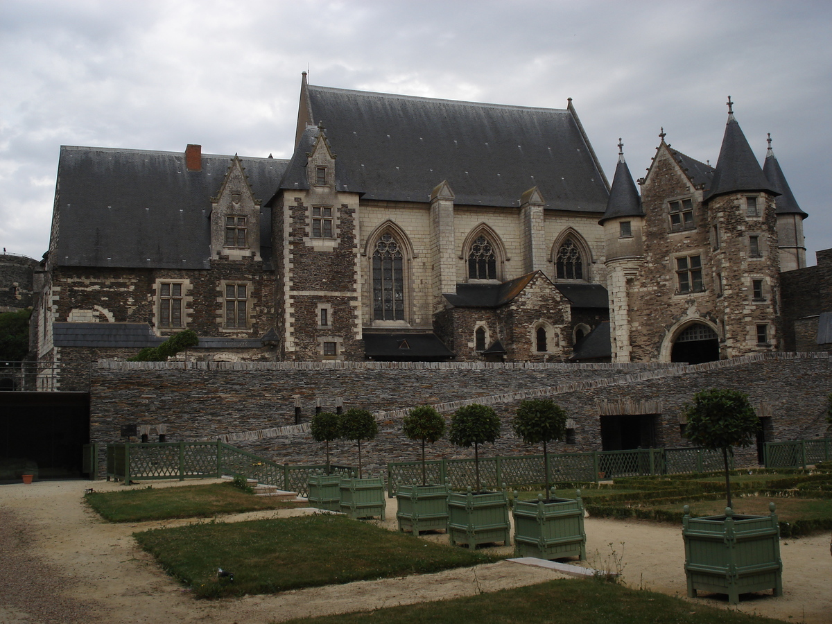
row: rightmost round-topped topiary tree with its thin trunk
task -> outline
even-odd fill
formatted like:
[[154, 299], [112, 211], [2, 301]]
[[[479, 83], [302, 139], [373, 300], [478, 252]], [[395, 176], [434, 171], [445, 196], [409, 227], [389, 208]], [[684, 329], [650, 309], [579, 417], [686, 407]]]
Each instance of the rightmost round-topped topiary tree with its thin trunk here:
[[722, 451], [726, 472], [726, 496], [731, 507], [730, 474], [728, 456], [733, 456], [735, 446], [749, 446], [755, 441], [760, 428], [748, 394], [739, 390], [710, 389], [697, 392], [693, 404], [686, 404], [685, 437], [691, 442], [712, 451]]

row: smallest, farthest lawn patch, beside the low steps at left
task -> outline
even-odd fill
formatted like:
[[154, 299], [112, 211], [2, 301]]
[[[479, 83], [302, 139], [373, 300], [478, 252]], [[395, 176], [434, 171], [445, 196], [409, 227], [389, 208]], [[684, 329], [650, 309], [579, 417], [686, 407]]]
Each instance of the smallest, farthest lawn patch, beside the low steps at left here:
[[231, 483], [94, 492], [86, 494], [84, 500], [100, 513], [102, 518], [110, 522], [211, 518], [220, 513], [244, 513], [299, 506], [299, 503], [254, 496], [233, 487]]

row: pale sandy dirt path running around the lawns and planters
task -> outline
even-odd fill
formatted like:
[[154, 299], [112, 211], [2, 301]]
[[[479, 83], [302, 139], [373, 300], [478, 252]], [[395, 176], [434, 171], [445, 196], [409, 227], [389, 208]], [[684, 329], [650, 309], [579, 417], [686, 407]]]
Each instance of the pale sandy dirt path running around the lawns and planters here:
[[[193, 482], [190, 482], [193, 483]], [[268, 624], [291, 617], [390, 607], [439, 598], [493, 592], [559, 577], [539, 567], [499, 562], [418, 577], [316, 587], [276, 596], [225, 601], [195, 601], [139, 550], [131, 533], [160, 522], [111, 524], [82, 503], [90, 485], [97, 491], [118, 489], [115, 483], [84, 481], [0, 487], [0, 624], [51, 622], [250, 622]], [[166, 485], [176, 486], [178, 482]], [[162, 483], [154, 483], [154, 488]], [[271, 518], [291, 512], [256, 512], [225, 518], [236, 521]], [[166, 522], [174, 526], [184, 522]], [[395, 502], [389, 502], [387, 527], [395, 526]], [[435, 541], [441, 534], [428, 537]], [[623, 542], [623, 546], [622, 546]], [[612, 546], [611, 546], [612, 545]], [[504, 552], [510, 551], [503, 549]], [[832, 557], [829, 537], [819, 535], [782, 542], [784, 563], [780, 598], [744, 600], [742, 612], [756, 612], [790, 622], [832, 622]], [[613, 553], [614, 552], [614, 553]], [[631, 587], [685, 596], [681, 529], [647, 522], [587, 519], [589, 564], [617, 569], [623, 565]], [[617, 564], [615, 557], [622, 557]], [[9, 566], [8, 562], [14, 562]], [[14, 591], [20, 586], [21, 592]], [[713, 597], [696, 598], [729, 608]]]

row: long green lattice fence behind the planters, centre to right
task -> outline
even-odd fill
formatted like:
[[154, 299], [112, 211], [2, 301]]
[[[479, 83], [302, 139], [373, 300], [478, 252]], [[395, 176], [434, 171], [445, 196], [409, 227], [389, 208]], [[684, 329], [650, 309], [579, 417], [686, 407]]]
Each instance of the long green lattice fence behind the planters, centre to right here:
[[[598, 483], [604, 479], [657, 474], [696, 474], [722, 468], [722, 455], [705, 448], [637, 448], [626, 451], [550, 453], [550, 483]], [[518, 488], [544, 483], [542, 455], [480, 458], [480, 483], [485, 488]], [[452, 489], [473, 486], [473, 458], [425, 463], [428, 483], [448, 483]], [[421, 483], [421, 462], [387, 464], [387, 490], [393, 497], [399, 483]]]

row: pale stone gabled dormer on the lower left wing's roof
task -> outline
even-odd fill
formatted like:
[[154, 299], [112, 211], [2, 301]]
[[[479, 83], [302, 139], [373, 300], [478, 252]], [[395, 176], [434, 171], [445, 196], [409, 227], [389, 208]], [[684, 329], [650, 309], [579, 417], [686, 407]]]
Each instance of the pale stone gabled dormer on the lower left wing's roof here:
[[236, 155], [211, 198], [210, 232], [211, 259], [260, 260], [260, 200]]

